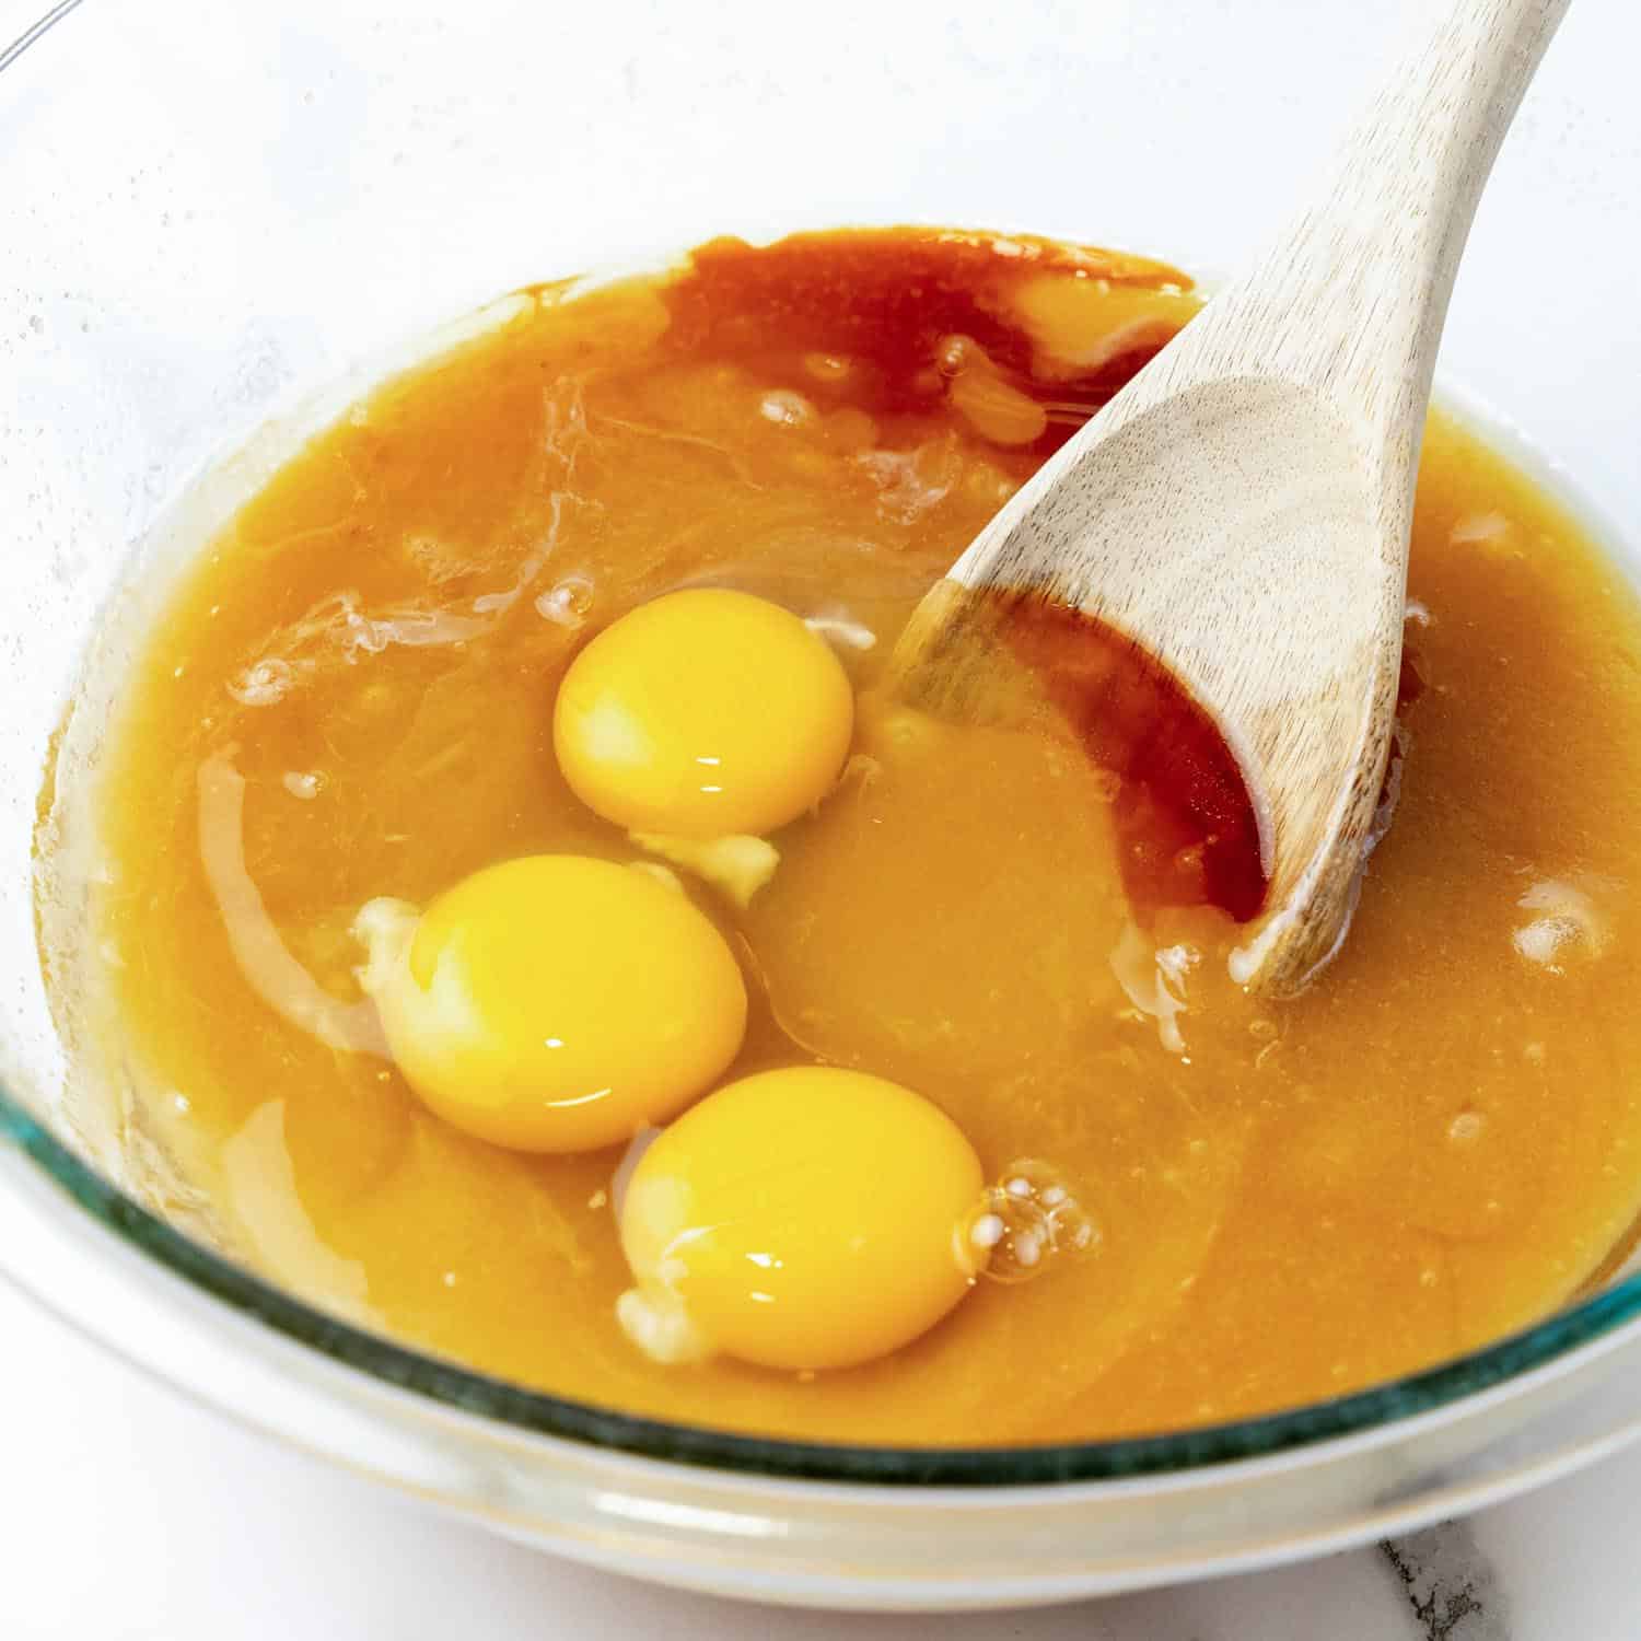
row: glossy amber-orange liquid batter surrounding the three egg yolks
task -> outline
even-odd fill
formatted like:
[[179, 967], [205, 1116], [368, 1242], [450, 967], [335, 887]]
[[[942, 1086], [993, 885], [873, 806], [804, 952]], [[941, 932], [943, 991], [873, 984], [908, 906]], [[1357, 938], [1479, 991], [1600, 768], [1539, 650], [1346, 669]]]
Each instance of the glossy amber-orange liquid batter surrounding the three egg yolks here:
[[[924, 589], [1193, 307], [1172, 269], [1037, 241], [720, 241], [674, 276], [530, 294], [274, 476], [153, 630], [98, 793], [112, 1035], [231, 1244], [527, 1385], [894, 1442], [1273, 1410], [1585, 1282], [1641, 1195], [1641, 624], [1500, 458], [1433, 418], [1400, 807], [1298, 1001], [1241, 996], [1229, 917], [1168, 907], [1216, 899], [1203, 852], [1086, 725], [873, 696]], [[555, 691], [619, 614], [701, 583], [814, 620], [862, 702], [768, 886], [740, 907], [689, 881], [747, 978], [725, 1076], [903, 1081], [988, 1177], [1042, 1159], [1098, 1227], [848, 1370], [635, 1351], [620, 1147], [464, 1137], [382, 1057], [353, 973], [374, 898], [637, 857], [558, 773]]]

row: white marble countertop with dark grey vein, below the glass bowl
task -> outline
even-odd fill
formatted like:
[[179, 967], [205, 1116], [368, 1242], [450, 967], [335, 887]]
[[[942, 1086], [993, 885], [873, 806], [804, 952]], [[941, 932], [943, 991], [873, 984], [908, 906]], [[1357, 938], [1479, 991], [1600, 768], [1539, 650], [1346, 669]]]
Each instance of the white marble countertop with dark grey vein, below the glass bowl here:
[[1388, 1549], [937, 1618], [676, 1595], [245, 1434], [0, 1287], [5, 1641], [1634, 1641], [1641, 1449]]

